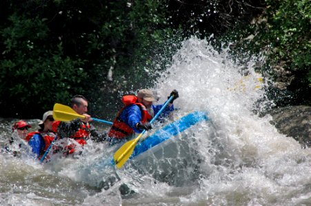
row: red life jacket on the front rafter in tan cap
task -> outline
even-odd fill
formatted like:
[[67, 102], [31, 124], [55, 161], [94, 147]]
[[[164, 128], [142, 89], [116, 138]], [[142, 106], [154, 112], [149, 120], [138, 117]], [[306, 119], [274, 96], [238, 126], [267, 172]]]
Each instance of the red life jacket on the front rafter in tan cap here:
[[126, 108], [126, 106], [129, 106], [131, 104], [136, 104], [137, 106], [139, 106], [141, 110], [141, 123], [149, 122], [152, 119], [152, 116], [148, 113], [146, 107], [143, 104], [137, 102], [136, 96], [134, 95], [123, 96], [122, 102], [123, 104], [125, 104], [125, 106], [121, 108], [121, 110], [117, 114], [116, 119], [114, 119], [112, 127], [110, 128], [108, 133], [109, 137], [123, 139], [125, 137], [128, 137], [129, 135], [134, 134], [134, 130], [130, 126], [128, 126], [128, 124], [126, 124], [120, 119], [120, 115], [124, 110], [124, 108]]

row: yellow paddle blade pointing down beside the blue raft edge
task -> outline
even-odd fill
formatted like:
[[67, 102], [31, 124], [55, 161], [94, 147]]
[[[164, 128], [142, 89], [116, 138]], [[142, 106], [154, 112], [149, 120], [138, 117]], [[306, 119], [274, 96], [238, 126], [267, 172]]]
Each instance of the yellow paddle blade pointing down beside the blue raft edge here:
[[117, 168], [120, 169], [124, 163], [126, 163], [126, 161], [128, 161], [128, 159], [130, 158], [130, 155], [132, 155], [134, 148], [137, 144], [137, 141], [139, 141], [139, 139], [143, 136], [143, 133], [141, 133], [138, 137], [136, 137], [135, 139], [132, 139], [128, 142], [126, 142], [125, 144], [123, 144], [123, 146], [121, 146], [121, 148], [119, 148], [119, 150], [117, 150], [117, 152], [114, 153], [114, 163], [115, 165], [117, 165]]

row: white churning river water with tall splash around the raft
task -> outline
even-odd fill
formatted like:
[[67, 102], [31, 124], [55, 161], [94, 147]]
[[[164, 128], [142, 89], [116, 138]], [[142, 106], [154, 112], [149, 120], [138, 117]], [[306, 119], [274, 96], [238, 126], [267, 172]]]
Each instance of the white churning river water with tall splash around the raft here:
[[[264, 83], [252, 67], [241, 76], [225, 52], [190, 38], [152, 89], [159, 102], [179, 91], [175, 119], [205, 111], [209, 121], [120, 170], [108, 161], [116, 147], [106, 143], [90, 141], [80, 157], [45, 164], [2, 152], [0, 205], [311, 205], [310, 149], [254, 114], [273, 103], [258, 103]], [[10, 123], [1, 119], [1, 144]]]

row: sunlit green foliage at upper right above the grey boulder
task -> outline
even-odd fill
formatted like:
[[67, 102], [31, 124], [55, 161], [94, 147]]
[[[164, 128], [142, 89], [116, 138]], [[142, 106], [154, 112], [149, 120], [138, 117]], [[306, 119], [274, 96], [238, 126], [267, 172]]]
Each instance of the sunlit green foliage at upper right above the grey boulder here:
[[257, 70], [272, 80], [269, 95], [277, 106], [310, 104], [310, 1], [266, 3], [261, 16], [232, 30], [226, 42], [233, 42], [232, 54], [241, 62], [254, 54], [265, 58]]

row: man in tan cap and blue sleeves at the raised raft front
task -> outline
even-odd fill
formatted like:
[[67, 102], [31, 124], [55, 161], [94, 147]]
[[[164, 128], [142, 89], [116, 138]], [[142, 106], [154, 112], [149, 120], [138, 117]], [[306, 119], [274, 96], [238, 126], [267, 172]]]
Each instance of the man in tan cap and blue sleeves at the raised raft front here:
[[[173, 102], [179, 98], [179, 93], [174, 89], [170, 93], [170, 96], [171, 95], [173, 95], [174, 98], [163, 110], [159, 119], [168, 117], [168, 115], [174, 111]], [[114, 119], [108, 133], [108, 137], [111, 138], [110, 140], [114, 143], [113, 139], [124, 139], [134, 135], [134, 133], [142, 133], [143, 130], [150, 130], [152, 128], [149, 123], [150, 120], [163, 106], [163, 104], [153, 105], [153, 102], [156, 101], [152, 91], [149, 89], [141, 89], [137, 93], [137, 96], [123, 96], [122, 102], [124, 106], [117, 114], [116, 119]]]

